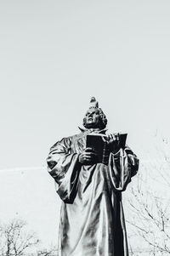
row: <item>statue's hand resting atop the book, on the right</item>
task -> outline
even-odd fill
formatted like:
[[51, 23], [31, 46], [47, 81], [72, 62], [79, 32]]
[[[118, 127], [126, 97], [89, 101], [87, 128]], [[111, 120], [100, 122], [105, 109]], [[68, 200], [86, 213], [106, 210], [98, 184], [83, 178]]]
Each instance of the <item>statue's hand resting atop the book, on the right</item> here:
[[108, 134], [107, 137], [103, 137], [103, 140], [108, 145], [111, 152], [116, 153], [120, 150], [119, 134]]

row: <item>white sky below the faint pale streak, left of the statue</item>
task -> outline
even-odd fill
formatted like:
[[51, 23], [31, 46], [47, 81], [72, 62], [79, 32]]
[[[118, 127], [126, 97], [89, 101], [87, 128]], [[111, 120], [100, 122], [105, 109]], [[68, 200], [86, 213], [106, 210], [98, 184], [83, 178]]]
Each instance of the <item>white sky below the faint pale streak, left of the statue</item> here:
[[0, 224], [26, 220], [26, 230], [42, 241], [39, 247], [57, 244], [60, 200], [44, 169], [0, 171], [0, 194]]

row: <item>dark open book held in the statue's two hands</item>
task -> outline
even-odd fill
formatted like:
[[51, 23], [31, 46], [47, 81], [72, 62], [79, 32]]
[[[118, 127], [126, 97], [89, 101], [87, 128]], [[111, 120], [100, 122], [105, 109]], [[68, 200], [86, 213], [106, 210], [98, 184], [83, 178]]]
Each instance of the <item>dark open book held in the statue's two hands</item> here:
[[[105, 139], [107, 139], [107, 135], [105, 134], [88, 134], [86, 147], [90, 147], [96, 152], [98, 156], [98, 162], [108, 164], [111, 151], [105, 143]], [[117, 151], [120, 148], [125, 147], [126, 139], [127, 134], [119, 134], [119, 148], [117, 148]]]

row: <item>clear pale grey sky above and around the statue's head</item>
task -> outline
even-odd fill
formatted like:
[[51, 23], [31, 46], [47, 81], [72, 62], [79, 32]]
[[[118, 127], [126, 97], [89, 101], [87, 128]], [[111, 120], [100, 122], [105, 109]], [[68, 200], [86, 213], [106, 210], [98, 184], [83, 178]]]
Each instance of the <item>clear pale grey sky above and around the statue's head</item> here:
[[42, 166], [91, 96], [139, 156], [169, 134], [170, 2], [1, 1], [0, 168]]

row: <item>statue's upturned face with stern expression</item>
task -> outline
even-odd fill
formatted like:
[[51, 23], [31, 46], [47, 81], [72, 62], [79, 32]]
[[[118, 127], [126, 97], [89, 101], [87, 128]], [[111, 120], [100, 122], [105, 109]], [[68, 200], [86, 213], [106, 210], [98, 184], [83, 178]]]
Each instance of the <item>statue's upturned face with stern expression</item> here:
[[101, 118], [99, 115], [99, 109], [88, 109], [83, 121], [86, 128], [100, 128]]

